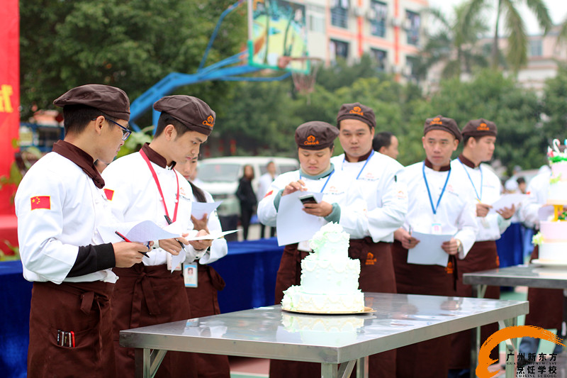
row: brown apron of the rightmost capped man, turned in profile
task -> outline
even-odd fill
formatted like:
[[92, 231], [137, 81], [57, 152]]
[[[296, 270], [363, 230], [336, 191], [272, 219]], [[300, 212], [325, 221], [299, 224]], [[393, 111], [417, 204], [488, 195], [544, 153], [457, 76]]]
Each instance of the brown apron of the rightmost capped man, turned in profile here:
[[[473, 296], [473, 288], [471, 285], [463, 284], [464, 273], [480, 272], [482, 270], [496, 268], [498, 268], [496, 242], [494, 240], [487, 240], [474, 243], [464, 260], [459, 260], [459, 280], [456, 283], [456, 296]], [[500, 287], [487, 287], [484, 298], [500, 299]], [[482, 326], [481, 345], [497, 330], [498, 323]], [[471, 330], [465, 330], [451, 335], [450, 369], [468, 369], [471, 367], [471, 337]], [[492, 352], [490, 352], [490, 358], [498, 360], [498, 352], [498, 348], [494, 348]]]

